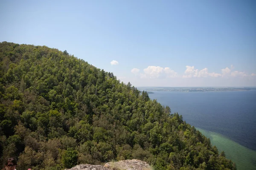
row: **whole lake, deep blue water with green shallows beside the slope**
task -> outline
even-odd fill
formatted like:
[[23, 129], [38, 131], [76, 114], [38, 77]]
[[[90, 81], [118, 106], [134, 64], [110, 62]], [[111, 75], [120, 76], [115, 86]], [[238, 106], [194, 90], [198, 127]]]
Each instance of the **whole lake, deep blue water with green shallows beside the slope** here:
[[[219, 135], [212, 138], [212, 144], [224, 150], [227, 157], [236, 162], [238, 169], [245, 168], [242, 168], [242, 162], [250, 164], [247, 169], [256, 169], [256, 91], [154, 91], [149, 97], [168, 105], [172, 113], [181, 114], [183, 120], [210, 139]], [[242, 152], [244, 155], [251, 153], [251, 156], [240, 158]], [[239, 162], [239, 159], [246, 160]]]

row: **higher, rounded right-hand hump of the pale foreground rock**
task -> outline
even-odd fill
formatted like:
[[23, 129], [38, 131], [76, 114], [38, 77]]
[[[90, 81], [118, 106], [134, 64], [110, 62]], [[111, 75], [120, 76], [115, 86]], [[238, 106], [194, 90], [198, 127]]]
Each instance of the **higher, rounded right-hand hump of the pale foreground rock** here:
[[147, 162], [138, 159], [108, 162], [104, 167], [107, 167], [110, 170], [151, 170], [151, 167]]

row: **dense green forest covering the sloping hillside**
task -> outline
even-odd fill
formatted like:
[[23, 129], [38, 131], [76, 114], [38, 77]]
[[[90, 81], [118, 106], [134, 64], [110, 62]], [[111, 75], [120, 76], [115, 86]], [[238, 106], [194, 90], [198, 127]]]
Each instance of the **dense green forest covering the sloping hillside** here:
[[19, 170], [140, 159], [156, 170], [236, 170], [181, 115], [67, 51], [0, 42], [0, 161]]

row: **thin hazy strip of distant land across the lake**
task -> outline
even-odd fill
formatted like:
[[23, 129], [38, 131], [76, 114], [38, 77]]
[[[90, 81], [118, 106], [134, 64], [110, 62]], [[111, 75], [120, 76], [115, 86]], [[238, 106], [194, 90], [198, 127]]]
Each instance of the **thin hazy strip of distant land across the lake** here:
[[[144, 91], [249, 91], [256, 90], [256, 87], [137, 87]], [[150, 92], [148, 92], [150, 93]]]

